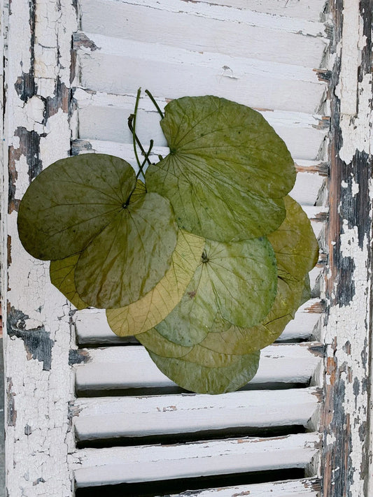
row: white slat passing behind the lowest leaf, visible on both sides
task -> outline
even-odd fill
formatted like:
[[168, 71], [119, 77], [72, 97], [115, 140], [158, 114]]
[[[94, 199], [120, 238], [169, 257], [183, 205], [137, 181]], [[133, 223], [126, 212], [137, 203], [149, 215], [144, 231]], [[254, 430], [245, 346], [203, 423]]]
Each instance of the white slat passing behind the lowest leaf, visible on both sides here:
[[[269, 345], [260, 354], [258, 372], [251, 384], [307, 383], [321, 358], [311, 352], [318, 343]], [[109, 390], [174, 387], [138, 345], [85, 349], [86, 363], [76, 366], [76, 388]]]

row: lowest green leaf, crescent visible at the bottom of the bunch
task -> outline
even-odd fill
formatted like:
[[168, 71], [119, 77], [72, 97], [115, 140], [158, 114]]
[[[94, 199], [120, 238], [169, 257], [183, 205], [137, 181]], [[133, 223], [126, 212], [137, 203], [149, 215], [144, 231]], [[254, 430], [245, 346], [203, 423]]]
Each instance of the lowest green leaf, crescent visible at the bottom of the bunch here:
[[[215, 395], [244, 387], [255, 376], [260, 358], [257, 351], [237, 356], [227, 366], [209, 367], [185, 360], [188, 354], [177, 359], [148, 352], [162, 373], [180, 387], [197, 394]], [[211, 355], [211, 351], [207, 352]]]

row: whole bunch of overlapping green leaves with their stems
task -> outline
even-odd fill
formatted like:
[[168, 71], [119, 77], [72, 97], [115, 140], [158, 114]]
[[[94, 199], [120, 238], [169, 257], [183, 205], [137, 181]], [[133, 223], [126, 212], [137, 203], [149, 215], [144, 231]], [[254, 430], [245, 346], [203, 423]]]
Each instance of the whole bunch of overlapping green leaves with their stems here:
[[139, 98], [137, 175], [106, 154], [55, 162], [24, 194], [20, 239], [76, 308], [106, 309], [178, 385], [233, 391], [309, 298], [318, 243], [288, 195], [293, 159], [255, 110], [186, 96], [157, 107], [169, 154], [151, 164]]

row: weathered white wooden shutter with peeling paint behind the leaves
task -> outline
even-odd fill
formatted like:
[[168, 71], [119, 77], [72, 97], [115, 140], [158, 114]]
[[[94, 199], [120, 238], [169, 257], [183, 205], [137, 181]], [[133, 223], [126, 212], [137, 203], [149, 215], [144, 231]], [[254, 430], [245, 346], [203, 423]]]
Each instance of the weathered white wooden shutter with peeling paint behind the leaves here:
[[[5, 9], [10, 497], [369, 495], [372, 2], [324, 3]], [[293, 196], [320, 240], [313, 298], [232, 394], [178, 389], [103, 312], [72, 310], [17, 239], [18, 203], [41, 168], [69, 152], [134, 163], [126, 122], [139, 86], [160, 106], [211, 93], [257, 108], [293, 154]], [[141, 139], [164, 154], [157, 122], [142, 100]]]

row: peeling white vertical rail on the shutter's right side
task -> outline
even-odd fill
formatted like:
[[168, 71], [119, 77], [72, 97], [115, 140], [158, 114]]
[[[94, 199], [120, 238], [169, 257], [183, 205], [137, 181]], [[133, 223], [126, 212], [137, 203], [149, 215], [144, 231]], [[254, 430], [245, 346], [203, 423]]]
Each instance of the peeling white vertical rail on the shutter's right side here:
[[323, 330], [323, 497], [372, 496], [370, 356], [372, 260], [372, 0], [332, 0], [330, 303]]

